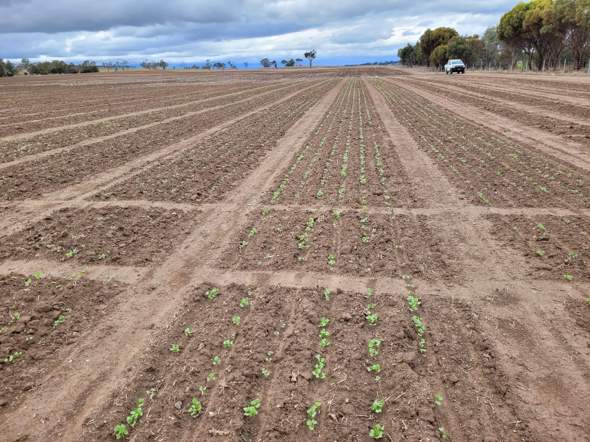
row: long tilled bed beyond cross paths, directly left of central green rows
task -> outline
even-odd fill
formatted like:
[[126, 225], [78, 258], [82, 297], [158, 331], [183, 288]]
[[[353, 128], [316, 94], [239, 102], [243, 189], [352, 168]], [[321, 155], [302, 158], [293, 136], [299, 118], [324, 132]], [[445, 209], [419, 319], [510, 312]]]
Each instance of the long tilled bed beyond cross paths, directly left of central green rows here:
[[107, 189], [102, 196], [200, 202], [218, 199], [272, 154], [277, 140], [338, 83], [329, 80], [238, 121], [201, 143]]

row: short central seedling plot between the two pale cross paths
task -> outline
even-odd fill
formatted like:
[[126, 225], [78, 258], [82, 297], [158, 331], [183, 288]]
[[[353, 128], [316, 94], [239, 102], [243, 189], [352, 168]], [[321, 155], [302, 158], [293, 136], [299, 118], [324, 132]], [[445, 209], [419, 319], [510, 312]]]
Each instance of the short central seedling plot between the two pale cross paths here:
[[228, 239], [224, 268], [400, 276], [411, 267], [425, 279], [460, 277], [458, 256], [427, 217], [268, 209]]

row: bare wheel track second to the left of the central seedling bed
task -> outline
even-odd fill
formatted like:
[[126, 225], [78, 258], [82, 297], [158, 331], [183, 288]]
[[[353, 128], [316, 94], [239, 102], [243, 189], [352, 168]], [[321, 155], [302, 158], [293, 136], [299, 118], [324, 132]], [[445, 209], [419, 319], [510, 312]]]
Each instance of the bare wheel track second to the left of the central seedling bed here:
[[[178, 151], [186, 149], [191, 145], [191, 143], [223, 130], [232, 124], [243, 120], [244, 118], [248, 118], [260, 111], [273, 107], [274, 105], [282, 103], [283, 101], [289, 100], [294, 95], [301, 93], [301, 91], [305, 91], [314, 86], [316, 85], [311, 85], [309, 87], [300, 89], [292, 94], [287, 95], [286, 97], [280, 98], [279, 100], [265, 104], [264, 106], [258, 107], [255, 110], [249, 111], [248, 113], [241, 114], [240, 116], [232, 118], [231, 120], [225, 121], [218, 126], [201, 131], [194, 136], [184, 138], [177, 143], [169, 144], [169, 146], [166, 146], [164, 149], [160, 149], [132, 161], [127, 161], [127, 163], [124, 163], [120, 167], [98, 173], [94, 175], [93, 180], [89, 180], [81, 184], [74, 184], [74, 186], [65, 187], [62, 190], [45, 194], [40, 199], [24, 200], [15, 204], [6, 204], [5, 206], [2, 206], [2, 209], [6, 210], [6, 212], [10, 211], [11, 216], [6, 216], [4, 219], [0, 220], [0, 229], [2, 229], [4, 235], [9, 235], [18, 230], [24, 229], [25, 226], [31, 222], [31, 220], [40, 219], [41, 217], [47, 216], [49, 213], [54, 212], [54, 210], [61, 209], [62, 207], [86, 207], [89, 202], [93, 201], [92, 198], [97, 192], [106, 190], [113, 185], [124, 182], [130, 177], [143, 173], [152, 167], [152, 163], [156, 161], [163, 161], [168, 158], [173, 158], [175, 154], [178, 153]], [[294, 134], [294, 136], [297, 136], [297, 134]], [[113, 179], [113, 177], [117, 178]], [[70, 200], [65, 200], [63, 205], [56, 204], [56, 202], [62, 201], [61, 196], [63, 196], [63, 194], [73, 194], [77, 195], [77, 197], [74, 197]]]

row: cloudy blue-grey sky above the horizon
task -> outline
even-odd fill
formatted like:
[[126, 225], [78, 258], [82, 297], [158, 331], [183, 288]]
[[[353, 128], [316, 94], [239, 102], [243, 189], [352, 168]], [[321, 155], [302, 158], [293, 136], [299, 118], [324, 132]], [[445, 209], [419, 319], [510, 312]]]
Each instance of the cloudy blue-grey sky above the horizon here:
[[396, 59], [427, 28], [483, 34], [517, 0], [0, 0], [0, 58], [170, 65]]

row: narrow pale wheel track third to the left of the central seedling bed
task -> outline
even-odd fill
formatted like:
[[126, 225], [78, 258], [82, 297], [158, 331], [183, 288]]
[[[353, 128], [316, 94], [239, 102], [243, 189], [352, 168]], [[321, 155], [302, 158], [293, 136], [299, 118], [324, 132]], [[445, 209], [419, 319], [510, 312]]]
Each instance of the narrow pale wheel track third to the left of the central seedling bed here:
[[[289, 87], [291, 87], [291, 85], [285, 86], [285, 87], [281, 87], [281, 88], [277, 88], [277, 89], [272, 89], [272, 90], [269, 90], [268, 92], [260, 93], [260, 94], [258, 94], [258, 96], [263, 96], [263, 95], [266, 95], [266, 94], [274, 93], [274, 92], [277, 92], [277, 91], [280, 91], [280, 90], [283, 90], [283, 89], [286, 89], [286, 88], [289, 88]], [[241, 91], [240, 93], [244, 93], [244, 91]], [[206, 101], [210, 101], [210, 100], [214, 100], [214, 99], [217, 100], [218, 98], [228, 97], [228, 96], [231, 96], [231, 95], [235, 95], [235, 94], [219, 95], [218, 97], [206, 98], [204, 100], [191, 101], [190, 103], [188, 103], [188, 105], [189, 104], [192, 104], [192, 103], [204, 103]], [[125, 129], [125, 130], [116, 132], [114, 134], [104, 135], [104, 136], [101, 136], [101, 137], [91, 138], [90, 140], [80, 141], [80, 143], [76, 143], [76, 144], [72, 144], [71, 146], [67, 146], [67, 150], [79, 149], [80, 147], [86, 147], [86, 146], [90, 146], [91, 144], [101, 143], [102, 141], [112, 140], [113, 138], [119, 138], [119, 137], [122, 137], [122, 136], [126, 136], [126, 135], [129, 135], [129, 134], [135, 133], [135, 132], [137, 132], [139, 130], [149, 129], [150, 127], [155, 127], [155, 126], [161, 126], [161, 125], [164, 125], [164, 124], [172, 123], [173, 121], [182, 120], [183, 118], [194, 117], [196, 115], [207, 113], [209, 111], [214, 111], [214, 110], [220, 109], [222, 107], [227, 107], [229, 105], [235, 105], [235, 104], [244, 103], [245, 101], [252, 100], [252, 97], [254, 95], [255, 94], [253, 94], [253, 95], [251, 95], [249, 97], [246, 97], [246, 98], [242, 98], [242, 100], [230, 101], [230, 102], [225, 103], [225, 104], [219, 104], [217, 106], [207, 107], [205, 109], [201, 109], [201, 110], [198, 110], [198, 111], [187, 112], [185, 114], [182, 114], [182, 115], [179, 115], [179, 116], [176, 116], [176, 117], [166, 118], [166, 120], [155, 121], [153, 123], [148, 123], [148, 124], [145, 124], [143, 126], [132, 127], [132, 128], [129, 128], [129, 129]], [[175, 106], [168, 107], [167, 109], [171, 109], [171, 108], [174, 108], [174, 107]], [[152, 112], [152, 111], [153, 111], [153, 109], [150, 110], [149, 112]], [[51, 156], [51, 155], [55, 154], [56, 151], [61, 151], [61, 150], [65, 150], [65, 147], [58, 147], [57, 149], [51, 149], [51, 150], [41, 151], [40, 153], [37, 153], [37, 154], [31, 154], [31, 155], [24, 156], [24, 157], [22, 157], [21, 159], [18, 159], [18, 160], [9, 161], [8, 163], [2, 163], [2, 164], [0, 164], [0, 170], [2, 170], [2, 169], [9, 169], [9, 167], [17, 166], [18, 164], [24, 163], [25, 161], [40, 160], [40, 159], [43, 159], [44, 157]]]

